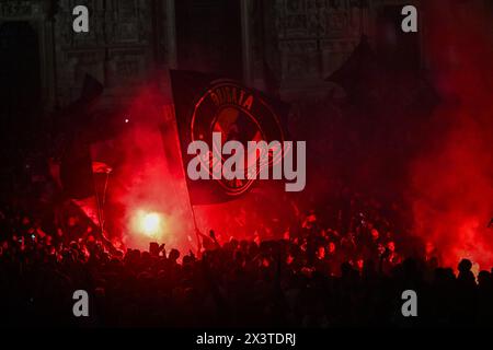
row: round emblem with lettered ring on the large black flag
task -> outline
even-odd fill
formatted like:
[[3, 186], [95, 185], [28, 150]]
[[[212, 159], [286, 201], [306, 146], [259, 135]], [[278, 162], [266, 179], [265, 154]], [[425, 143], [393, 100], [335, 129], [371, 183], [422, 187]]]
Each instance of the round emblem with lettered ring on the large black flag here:
[[[279, 118], [274, 108], [257, 92], [242, 86], [230, 80], [213, 82], [194, 106], [191, 136], [192, 141], [205, 141], [209, 147], [209, 173], [213, 178], [215, 167], [222, 166], [232, 155], [222, 155], [217, 144], [213, 142], [213, 135], [221, 135], [221, 144], [228, 141], [239, 141], [245, 150], [245, 162], [241, 172], [244, 178], [225, 179], [217, 183], [230, 196], [238, 196], [246, 191], [255, 182], [264, 166], [272, 166], [279, 162], [283, 152], [272, 152], [267, 162], [262, 162], [260, 153], [249, 154], [249, 141], [284, 142], [284, 133]], [[219, 162], [220, 160], [220, 162]], [[203, 160], [204, 164], [207, 160]], [[256, 166], [251, 166], [257, 163]], [[249, 166], [250, 165], [250, 166]], [[256, 172], [256, 174], [254, 174]], [[250, 174], [250, 176], [249, 176]], [[254, 176], [255, 175], [255, 176]]]

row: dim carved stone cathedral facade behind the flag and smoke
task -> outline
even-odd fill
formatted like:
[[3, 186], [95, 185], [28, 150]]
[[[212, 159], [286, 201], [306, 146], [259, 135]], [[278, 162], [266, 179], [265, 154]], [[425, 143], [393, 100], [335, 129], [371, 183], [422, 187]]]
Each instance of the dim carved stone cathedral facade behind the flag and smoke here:
[[[389, 35], [382, 25], [399, 35], [395, 21], [410, 3], [404, 0], [2, 0], [1, 80], [35, 86], [45, 113], [77, 100], [85, 73], [105, 85], [108, 103], [149, 81], [169, 97], [168, 70], [176, 68], [274, 86], [286, 100], [317, 98], [362, 35], [378, 44]], [[90, 11], [89, 33], [72, 30], [80, 4]], [[420, 63], [422, 40], [413, 44]], [[21, 55], [28, 72], [5, 68]]]

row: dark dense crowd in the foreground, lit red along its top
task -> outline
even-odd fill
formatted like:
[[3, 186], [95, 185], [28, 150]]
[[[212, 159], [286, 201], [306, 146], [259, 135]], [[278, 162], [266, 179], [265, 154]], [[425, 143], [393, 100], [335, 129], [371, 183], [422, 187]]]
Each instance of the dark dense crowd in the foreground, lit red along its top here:
[[[489, 271], [440, 268], [433, 249], [404, 259], [371, 223], [342, 235], [311, 213], [270, 241], [200, 234], [202, 249], [184, 255], [158, 243], [110, 253], [94, 235], [64, 241], [23, 215], [1, 214], [3, 233], [13, 221], [0, 246], [1, 326], [493, 326]], [[77, 290], [90, 296], [87, 318], [73, 316]], [[405, 290], [417, 317], [402, 315]]]

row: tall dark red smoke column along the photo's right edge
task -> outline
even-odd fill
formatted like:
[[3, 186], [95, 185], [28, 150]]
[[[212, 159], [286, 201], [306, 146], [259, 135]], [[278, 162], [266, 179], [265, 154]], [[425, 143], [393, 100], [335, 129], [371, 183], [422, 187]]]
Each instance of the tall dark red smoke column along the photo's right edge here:
[[[493, 40], [484, 1], [429, 1], [426, 51], [443, 103], [411, 165], [415, 231], [456, 266], [493, 266]], [[423, 34], [423, 33], [422, 33]]]

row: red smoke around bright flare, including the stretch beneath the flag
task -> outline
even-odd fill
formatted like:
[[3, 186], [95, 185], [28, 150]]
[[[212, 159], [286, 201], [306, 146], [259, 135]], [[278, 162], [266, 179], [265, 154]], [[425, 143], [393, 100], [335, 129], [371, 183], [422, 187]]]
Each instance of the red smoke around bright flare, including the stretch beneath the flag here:
[[[180, 158], [173, 106], [157, 86], [146, 86], [131, 98], [121, 116], [124, 131], [99, 144], [99, 156], [114, 168], [108, 184], [107, 224], [115, 241], [133, 248], [149, 243], [165, 243], [182, 252], [197, 248], [194, 219], [185, 174]], [[128, 119], [128, 121], [127, 121]], [[94, 152], [93, 152], [94, 153]], [[289, 205], [283, 201], [284, 185], [255, 186], [248, 196], [230, 202], [196, 206], [196, 223], [202, 233], [216, 231], [221, 242], [231, 237], [268, 237], [270, 228], [287, 229], [282, 223]], [[283, 190], [280, 188], [283, 187]], [[159, 215], [159, 232], [146, 232], [145, 218]], [[283, 220], [284, 222], [288, 220]], [[110, 228], [108, 228], [110, 230]], [[122, 233], [122, 234], [121, 234]]]

